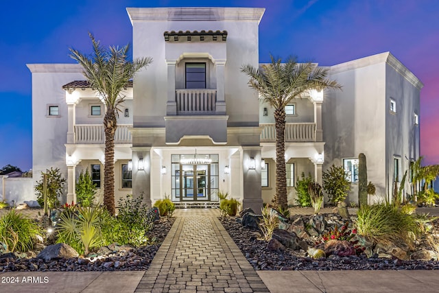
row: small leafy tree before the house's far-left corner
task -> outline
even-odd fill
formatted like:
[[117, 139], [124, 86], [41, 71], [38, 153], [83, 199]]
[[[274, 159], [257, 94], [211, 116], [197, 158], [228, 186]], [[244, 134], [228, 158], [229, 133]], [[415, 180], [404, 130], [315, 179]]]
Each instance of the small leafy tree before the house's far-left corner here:
[[43, 185], [44, 185], [44, 175], [47, 176], [47, 206], [49, 209], [54, 209], [60, 204], [58, 197], [62, 194], [62, 189], [64, 189], [64, 183], [66, 179], [62, 177], [59, 168], [46, 169], [46, 172], [41, 172], [41, 179], [36, 183], [36, 200], [41, 207], [44, 205], [43, 196]]

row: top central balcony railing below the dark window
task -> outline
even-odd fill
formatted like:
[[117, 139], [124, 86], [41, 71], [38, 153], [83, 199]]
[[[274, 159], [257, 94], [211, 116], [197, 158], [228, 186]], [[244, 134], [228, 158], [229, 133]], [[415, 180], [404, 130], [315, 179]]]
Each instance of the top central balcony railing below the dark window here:
[[212, 115], [215, 113], [215, 89], [176, 90], [177, 115]]

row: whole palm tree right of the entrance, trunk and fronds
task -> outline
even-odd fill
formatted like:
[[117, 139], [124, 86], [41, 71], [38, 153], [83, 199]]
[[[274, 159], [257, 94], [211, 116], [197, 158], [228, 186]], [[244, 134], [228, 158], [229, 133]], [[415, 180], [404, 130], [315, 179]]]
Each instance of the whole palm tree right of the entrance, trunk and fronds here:
[[262, 65], [260, 69], [244, 65], [241, 71], [250, 77], [248, 82], [252, 89], [259, 91], [264, 102], [274, 108], [276, 122], [276, 204], [286, 209], [287, 177], [285, 171], [285, 106], [294, 98], [308, 93], [312, 89], [341, 89], [342, 86], [327, 79], [328, 69], [317, 67], [311, 62], [298, 63], [296, 58], [289, 58], [284, 64], [281, 59]]

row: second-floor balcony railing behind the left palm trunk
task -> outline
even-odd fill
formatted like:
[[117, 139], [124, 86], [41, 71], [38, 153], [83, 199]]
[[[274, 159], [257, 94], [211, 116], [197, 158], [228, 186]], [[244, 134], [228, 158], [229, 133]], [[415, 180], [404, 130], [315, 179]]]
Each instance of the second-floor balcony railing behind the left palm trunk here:
[[[132, 125], [119, 124], [115, 132], [115, 143], [131, 143], [131, 133], [128, 128]], [[104, 126], [99, 124], [75, 125], [75, 143], [99, 144], [105, 142]]]

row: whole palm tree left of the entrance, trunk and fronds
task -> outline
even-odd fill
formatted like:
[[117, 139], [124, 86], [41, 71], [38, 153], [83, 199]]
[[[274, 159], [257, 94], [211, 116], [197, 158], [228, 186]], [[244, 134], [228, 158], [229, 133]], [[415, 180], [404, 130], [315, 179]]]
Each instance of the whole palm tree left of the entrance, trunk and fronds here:
[[92, 34], [93, 53], [82, 54], [70, 48], [70, 56], [82, 66], [83, 74], [92, 89], [99, 93], [104, 102], [105, 166], [104, 166], [104, 205], [115, 214], [115, 131], [117, 128], [118, 106], [124, 101], [123, 88], [134, 78], [135, 73], [152, 62], [152, 58], [139, 58], [130, 61], [130, 45], [121, 48], [100, 45]]

